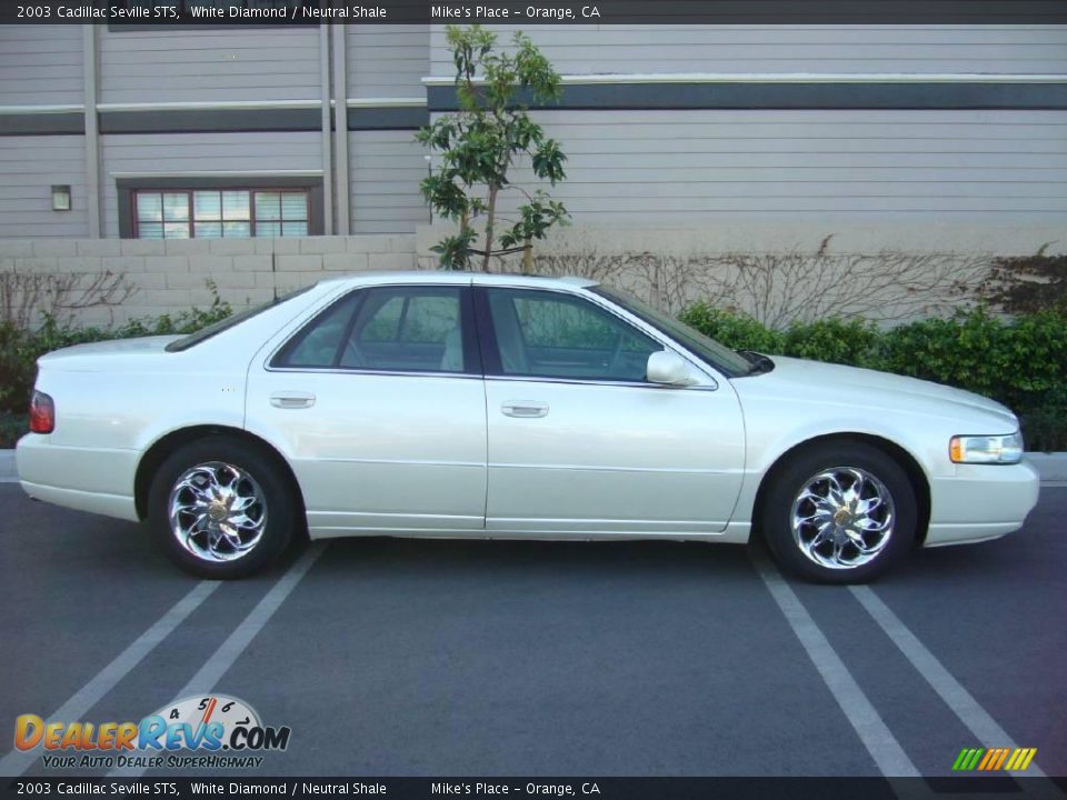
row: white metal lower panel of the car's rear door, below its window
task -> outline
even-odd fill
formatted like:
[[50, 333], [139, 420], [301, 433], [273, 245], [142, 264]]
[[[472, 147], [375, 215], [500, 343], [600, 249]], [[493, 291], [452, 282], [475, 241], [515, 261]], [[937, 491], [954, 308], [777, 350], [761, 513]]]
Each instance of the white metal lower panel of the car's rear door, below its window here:
[[[277, 408], [299, 390], [310, 408]], [[477, 378], [262, 372], [248, 426], [289, 456], [316, 536], [359, 529], [481, 528], [485, 394]]]

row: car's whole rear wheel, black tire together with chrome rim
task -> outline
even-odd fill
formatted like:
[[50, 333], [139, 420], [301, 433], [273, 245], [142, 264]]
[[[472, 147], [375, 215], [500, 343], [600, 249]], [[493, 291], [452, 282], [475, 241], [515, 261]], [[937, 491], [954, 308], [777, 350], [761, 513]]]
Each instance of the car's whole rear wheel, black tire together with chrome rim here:
[[250, 576], [292, 538], [298, 507], [270, 453], [226, 437], [172, 453], [149, 491], [148, 522], [183, 570], [225, 580]]

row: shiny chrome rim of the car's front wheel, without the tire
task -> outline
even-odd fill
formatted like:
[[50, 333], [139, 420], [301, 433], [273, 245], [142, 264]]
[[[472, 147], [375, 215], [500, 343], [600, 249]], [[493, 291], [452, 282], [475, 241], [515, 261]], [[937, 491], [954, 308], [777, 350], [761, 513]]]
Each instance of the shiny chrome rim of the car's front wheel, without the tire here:
[[885, 483], [866, 470], [835, 467], [808, 479], [789, 520], [805, 557], [842, 570], [868, 563], [885, 550], [895, 517]]

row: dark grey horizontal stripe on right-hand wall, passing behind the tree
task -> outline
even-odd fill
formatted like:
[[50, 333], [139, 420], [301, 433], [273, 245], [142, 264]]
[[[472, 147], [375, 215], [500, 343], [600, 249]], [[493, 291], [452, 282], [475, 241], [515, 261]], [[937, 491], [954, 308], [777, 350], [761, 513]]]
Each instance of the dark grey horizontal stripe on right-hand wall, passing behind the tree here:
[[[458, 108], [452, 87], [427, 87], [430, 111]], [[531, 108], [538, 108], [530, 103]], [[560, 110], [1067, 109], [1067, 83], [604, 83], [564, 87]]]

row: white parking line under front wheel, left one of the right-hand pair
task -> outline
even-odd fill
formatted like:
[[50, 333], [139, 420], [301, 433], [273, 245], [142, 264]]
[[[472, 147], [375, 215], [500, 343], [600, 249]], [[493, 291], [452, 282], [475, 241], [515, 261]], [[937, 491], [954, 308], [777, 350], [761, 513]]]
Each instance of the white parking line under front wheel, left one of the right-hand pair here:
[[826, 634], [811, 619], [811, 614], [808, 613], [796, 592], [778, 570], [762, 557], [754, 559], [754, 563], [775, 602], [778, 603], [778, 608], [785, 614], [786, 621], [792, 628], [792, 632], [797, 634], [808, 658], [819, 671], [830, 694], [837, 700], [837, 704], [845, 712], [845, 717], [875, 760], [881, 774], [886, 778], [920, 777], [919, 770], [911, 763], [900, 742], [893, 736], [864, 690], [859, 688], [856, 679], [830, 646]]

